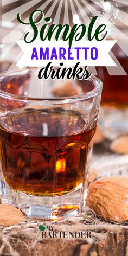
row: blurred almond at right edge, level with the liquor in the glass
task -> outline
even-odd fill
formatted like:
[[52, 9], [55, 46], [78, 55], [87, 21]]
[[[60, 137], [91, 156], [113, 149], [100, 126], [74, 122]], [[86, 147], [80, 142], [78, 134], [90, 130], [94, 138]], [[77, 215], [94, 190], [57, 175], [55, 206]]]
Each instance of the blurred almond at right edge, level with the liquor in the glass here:
[[128, 154], [128, 136], [121, 136], [114, 139], [110, 144], [110, 149], [116, 153]]

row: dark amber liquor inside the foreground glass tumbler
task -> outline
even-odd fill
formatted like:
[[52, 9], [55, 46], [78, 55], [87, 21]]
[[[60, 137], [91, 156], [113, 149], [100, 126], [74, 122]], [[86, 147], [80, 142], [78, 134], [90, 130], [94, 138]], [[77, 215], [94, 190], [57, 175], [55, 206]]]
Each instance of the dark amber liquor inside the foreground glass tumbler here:
[[1, 117], [1, 164], [12, 190], [58, 196], [86, 180], [88, 145], [95, 127], [86, 129], [79, 112], [57, 108], [10, 112]]

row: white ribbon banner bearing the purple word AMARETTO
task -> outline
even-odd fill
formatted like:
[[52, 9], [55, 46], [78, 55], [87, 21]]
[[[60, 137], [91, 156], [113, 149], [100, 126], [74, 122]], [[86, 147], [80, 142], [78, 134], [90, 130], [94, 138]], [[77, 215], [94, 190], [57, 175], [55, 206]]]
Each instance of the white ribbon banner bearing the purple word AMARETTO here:
[[25, 43], [22, 40], [16, 41], [23, 51], [23, 56], [17, 62], [18, 67], [45, 67], [48, 62], [52, 62], [52, 66], [59, 66], [63, 62], [63, 66], [75, 66], [80, 62], [80, 66], [117, 66], [108, 54], [117, 42], [116, 40], [103, 41], [74, 41], [72, 48], [68, 46], [68, 42], [64, 41], [34, 41]]

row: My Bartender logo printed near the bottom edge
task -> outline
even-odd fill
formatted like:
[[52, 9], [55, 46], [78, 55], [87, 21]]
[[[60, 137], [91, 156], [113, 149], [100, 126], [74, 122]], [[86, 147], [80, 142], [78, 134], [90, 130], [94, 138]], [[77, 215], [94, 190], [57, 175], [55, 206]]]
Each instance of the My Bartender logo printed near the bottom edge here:
[[40, 225], [42, 239], [86, 239], [91, 238], [91, 231], [56, 231], [54, 226]]

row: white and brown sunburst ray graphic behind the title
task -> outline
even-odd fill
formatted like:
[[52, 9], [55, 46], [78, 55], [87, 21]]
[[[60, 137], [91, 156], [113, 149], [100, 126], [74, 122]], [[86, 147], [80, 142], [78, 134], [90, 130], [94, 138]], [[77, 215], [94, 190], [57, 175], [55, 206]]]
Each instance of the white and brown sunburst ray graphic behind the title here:
[[[8, 56], [14, 56], [15, 48], [18, 46], [16, 40], [23, 40], [24, 34], [28, 31], [28, 26], [24, 26], [17, 22], [16, 16], [21, 14], [22, 20], [29, 22], [29, 15], [31, 11], [40, 9], [44, 12], [45, 17], [51, 17], [53, 24], [88, 24], [93, 16], [99, 16], [99, 24], [107, 25], [108, 39], [111, 37], [117, 40], [118, 47], [128, 56], [128, 2], [127, 0], [3, 0], [2, 1], [2, 25], [4, 31], [3, 43], [3, 57], [8, 59]], [[39, 23], [39, 30], [44, 24], [44, 21]], [[31, 33], [33, 30], [29, 28]], [[8, 47], [4, 50], [4, 45]], [[15, 67], [15, 63], [21, 58], [22, 52], [17, 50], [16, 56], [12, 61], [10, 68]], [[116, 62], [117, 67], [106, 67], [110, 75], [126, 75], [125, 70], [121, 67], [117, 57], [110, 52], [110, 56]], [[93, 74], [97, 75], [97, 68], [90, 68]]]

